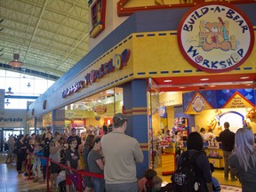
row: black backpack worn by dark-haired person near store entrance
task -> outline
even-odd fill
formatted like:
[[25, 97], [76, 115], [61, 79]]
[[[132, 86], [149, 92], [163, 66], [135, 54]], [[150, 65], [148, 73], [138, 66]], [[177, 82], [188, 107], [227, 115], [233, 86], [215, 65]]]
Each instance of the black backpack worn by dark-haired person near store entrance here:
[[192, 156], [189, 156], [189, 152], [185, 151], [181, 154], [182, 162], [180, 167], [172, 174], [172, 183], [174, 185], [174, 191], [178, 192], [196, 192], [200, 191], [200, 182], [195, 172], [195, 162], [197, 156], [200, 156], [202, 152], [195, 152]]

